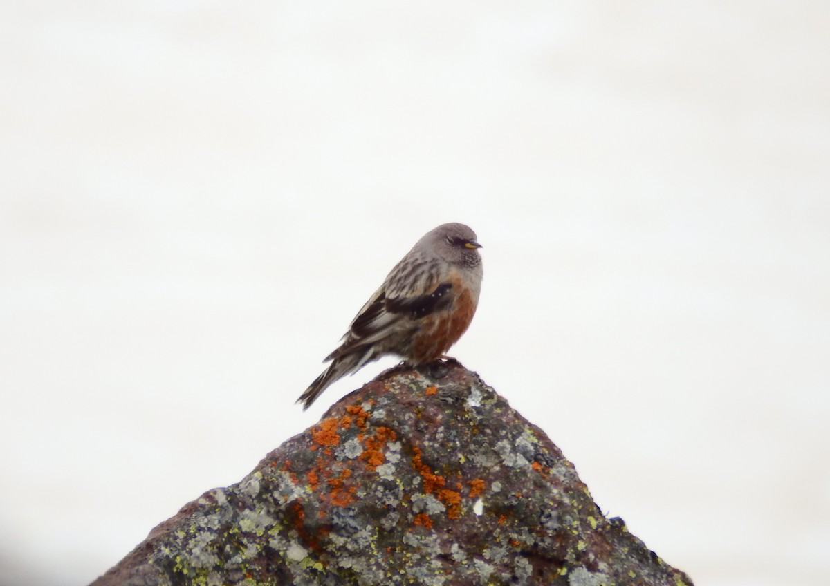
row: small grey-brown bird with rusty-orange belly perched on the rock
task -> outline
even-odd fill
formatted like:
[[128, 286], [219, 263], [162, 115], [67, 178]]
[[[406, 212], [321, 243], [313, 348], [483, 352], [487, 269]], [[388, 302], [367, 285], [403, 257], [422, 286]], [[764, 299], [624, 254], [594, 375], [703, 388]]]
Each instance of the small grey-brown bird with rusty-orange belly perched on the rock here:
[[308, 409], [335, 380], [386, 355], [422, 366], [445, 353], [470, 326], [481, 293], [481, 245], [464, 224], [439, 225], [395, 265], [352, 320], [330, 365], [297, 403]]

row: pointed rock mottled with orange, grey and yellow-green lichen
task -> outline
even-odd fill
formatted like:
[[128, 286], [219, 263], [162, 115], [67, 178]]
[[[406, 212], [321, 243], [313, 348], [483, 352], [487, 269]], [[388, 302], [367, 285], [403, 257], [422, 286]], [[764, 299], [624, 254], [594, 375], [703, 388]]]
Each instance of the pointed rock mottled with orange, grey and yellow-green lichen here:
[[339, 400], [242, 482], [206, 492], [105, 584], [671, 584], [559, 448], [455, 362]]

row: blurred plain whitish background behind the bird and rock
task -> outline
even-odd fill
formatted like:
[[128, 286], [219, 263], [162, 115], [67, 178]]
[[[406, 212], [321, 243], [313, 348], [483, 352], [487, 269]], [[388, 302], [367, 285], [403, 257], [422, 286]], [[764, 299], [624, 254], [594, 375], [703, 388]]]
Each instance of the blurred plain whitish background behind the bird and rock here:
[[86, 584], [294, 400], [424, 232], [452, 354], [699, 586], [830, 569], [826, 2], [7, 2], [0, 584]]

